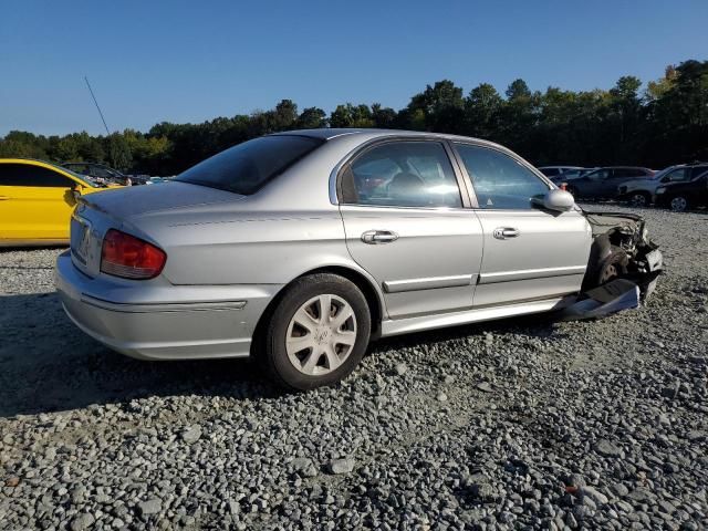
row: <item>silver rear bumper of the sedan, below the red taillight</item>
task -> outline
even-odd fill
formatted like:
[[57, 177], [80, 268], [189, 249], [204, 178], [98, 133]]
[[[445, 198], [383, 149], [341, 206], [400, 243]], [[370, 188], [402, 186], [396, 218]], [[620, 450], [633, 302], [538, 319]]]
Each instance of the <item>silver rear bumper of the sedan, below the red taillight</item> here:
[[[115, 284], [80, 272], [66, 251], [56, 260], [56, 290], [69, 317], [110, 348], [142, 360], [243, 357], [279, 285], [165, 287]], [[218, 294], [218, 295], [215, 295]], [[153, 299], [153, 300], [150, 300]]]

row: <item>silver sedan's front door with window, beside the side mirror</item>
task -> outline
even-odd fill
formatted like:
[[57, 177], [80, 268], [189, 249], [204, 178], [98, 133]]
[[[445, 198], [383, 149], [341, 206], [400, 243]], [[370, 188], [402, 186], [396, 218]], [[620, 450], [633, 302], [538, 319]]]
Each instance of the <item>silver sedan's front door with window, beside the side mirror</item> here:
[[485, 239], [475, 306], [577, 292], [592, 243], [582, 212], [535, 207], [532, 198], [551, 186], [511, 154], [467, 143], [455, 148], [472, 185]]

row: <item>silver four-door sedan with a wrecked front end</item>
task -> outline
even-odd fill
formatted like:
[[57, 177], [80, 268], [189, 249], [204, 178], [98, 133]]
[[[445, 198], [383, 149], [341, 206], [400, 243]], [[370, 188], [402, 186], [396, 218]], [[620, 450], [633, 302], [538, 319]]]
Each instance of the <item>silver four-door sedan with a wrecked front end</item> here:
[[81, 330], [139, 358], [253, 356], [298, 389], [371, 339], [559, 309], [626, 264], [529, 163], [450, 135], [280, 133], [80, 201], [56, 287]]

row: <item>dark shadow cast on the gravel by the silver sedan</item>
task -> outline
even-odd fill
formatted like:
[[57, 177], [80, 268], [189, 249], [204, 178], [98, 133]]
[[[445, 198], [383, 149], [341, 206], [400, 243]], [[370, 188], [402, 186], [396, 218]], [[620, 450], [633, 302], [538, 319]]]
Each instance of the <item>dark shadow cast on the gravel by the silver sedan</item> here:
[[[367, 355], [485, 332], [558, 335], [548, 316], [514, 317], [379, 340]], [[247, 360], [143, 362], [117, 354], [76, 329], [55, 293], [0, 296], [0, 417], [149, 396], [285, 394]]]

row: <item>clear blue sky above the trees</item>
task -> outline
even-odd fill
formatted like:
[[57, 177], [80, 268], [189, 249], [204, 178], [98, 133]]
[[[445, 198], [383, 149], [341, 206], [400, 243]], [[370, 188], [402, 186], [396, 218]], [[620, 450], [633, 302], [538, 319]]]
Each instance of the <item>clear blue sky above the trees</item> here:
[[610, 88], [708, 59], [706, 0], [2, 0], [0, 136], [147, 131], [283, 98], [396, 110], [449, 79], [467, 94]]

